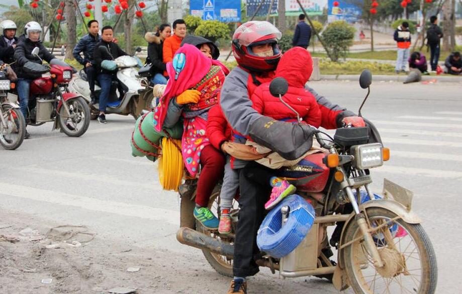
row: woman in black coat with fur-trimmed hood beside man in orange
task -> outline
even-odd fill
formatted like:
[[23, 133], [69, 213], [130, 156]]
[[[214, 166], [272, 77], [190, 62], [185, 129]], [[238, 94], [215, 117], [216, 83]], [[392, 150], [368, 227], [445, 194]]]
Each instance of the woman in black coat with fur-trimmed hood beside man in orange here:
[[156, 34], [146, 33], [144, 38], [149, 43], [147, 63], [151, 63], [151, 82], [154, 84], [167, 84], [167, 78], [164, 76], [166, 64], [162, 62], [163, 41], [170, 37], [171, 28], [169, 24], [160, 25]]

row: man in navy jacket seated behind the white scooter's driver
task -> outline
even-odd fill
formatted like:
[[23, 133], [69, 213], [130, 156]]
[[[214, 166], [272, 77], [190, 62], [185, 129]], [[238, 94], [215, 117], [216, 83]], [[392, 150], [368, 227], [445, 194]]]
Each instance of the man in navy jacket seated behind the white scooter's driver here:
[[[77, 45], [75, 45], [74, 50], [72, 50], [72, 55], [74, 58], [83, 65], [83, 70], [86, 73], [88, 84], [90, 86], [91, 101], [95, 102], [95, 75], [96, 69], [93, 66], [93, 51], [98, 42], [101, 41], [101, 37], [98, 34], [100, 27], [98, 21], [91, 20], [88, 22], [88, 35], [85, 35], [81, 38]], [[83, 58], [80, 56], [80, 53], [83, 52]]]

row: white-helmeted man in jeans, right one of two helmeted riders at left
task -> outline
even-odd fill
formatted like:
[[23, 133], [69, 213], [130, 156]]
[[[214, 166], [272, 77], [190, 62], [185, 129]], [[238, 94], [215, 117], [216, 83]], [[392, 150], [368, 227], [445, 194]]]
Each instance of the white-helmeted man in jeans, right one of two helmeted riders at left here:
[[[24, 65], [27, 62], [34, 62], [42, 64], [42, 60], [50, 63], [50, 61], [56, 57], [53, 56], [43, 46], [40, 41], [40, 34], [42, 33], [42, 27], [37, 22], [29, 22], [24, 27], [24, 38], [21, 39], [15, 49], [14, 70], [18, 76], [17, 90], [20, 100], [21, 112], [24, 117], [27, 118], [27, 108], [29, 105], [29, 90], [32, 80], [42, 76], [40, 73], [32, 73], [24, 70]], [[32, 55], [32, 50], [38, 47], [38, 57]], [[26, 131], [26, 138], [29, 138], [29, 133]]]

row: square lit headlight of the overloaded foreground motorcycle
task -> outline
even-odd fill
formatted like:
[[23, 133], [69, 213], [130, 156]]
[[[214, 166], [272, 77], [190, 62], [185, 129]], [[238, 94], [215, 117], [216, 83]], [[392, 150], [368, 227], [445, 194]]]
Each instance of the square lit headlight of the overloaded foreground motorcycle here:
[[354, 165], [359, 169], [378, 167], [384, 164], [382, 144], [372, 143], [351, 147]]

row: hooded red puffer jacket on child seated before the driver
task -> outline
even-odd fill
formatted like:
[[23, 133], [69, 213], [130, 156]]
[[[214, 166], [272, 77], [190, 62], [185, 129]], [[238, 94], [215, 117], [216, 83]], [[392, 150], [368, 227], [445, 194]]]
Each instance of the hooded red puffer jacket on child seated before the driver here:
[[[279, 62], [275, 77], [284, 77], [289, 90], [283, 96], [284, 102], [295, 109], [300, 118], [316, 128], [321, 125], [322, 114], [318, 103], [307, 89], [305, 83], [313, 72], [313, 60], [310, 53], [302, 47], [287, 51]], [[251, 96], [253, 108], [262, 115], [275, 120], [293, 120], [297, 115], [284, 105], [279, 97], [269, 92], [269, 82], [259, 85]]]

